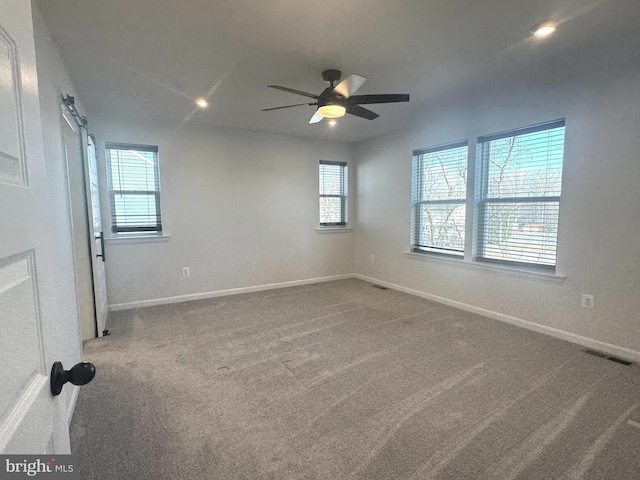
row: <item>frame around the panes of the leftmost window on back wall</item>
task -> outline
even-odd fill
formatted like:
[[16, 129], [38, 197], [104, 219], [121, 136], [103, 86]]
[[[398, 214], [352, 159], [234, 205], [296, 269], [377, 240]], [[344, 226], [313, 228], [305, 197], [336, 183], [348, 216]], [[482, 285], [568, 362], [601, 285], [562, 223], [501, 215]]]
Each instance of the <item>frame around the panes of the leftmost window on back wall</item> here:
[[[158, 158], [158, 147], [155, 145], [137, 145], [131, 143], [105, 143], [105, 158], [107, 163], [107, 182], [109, 187], [109, 212], [111, 216], [111, 233], [115, 237], [136, 237], [136, 236], [162, 236], [162, 210], [160, 208], [160, 167]], [[146, 152], [153, 153], [154, 157], [154, 189], [153, 190], [122, 190], [114, 188], [112, 172], [111, 172], [111, 151], [112, 150], [125, 150], [131, 152]], [[155, 224], [117, 224], [117, 212], [115, 198], [119, 194], [127, 195], [144, 195], [154, 198], [155, 205]]]

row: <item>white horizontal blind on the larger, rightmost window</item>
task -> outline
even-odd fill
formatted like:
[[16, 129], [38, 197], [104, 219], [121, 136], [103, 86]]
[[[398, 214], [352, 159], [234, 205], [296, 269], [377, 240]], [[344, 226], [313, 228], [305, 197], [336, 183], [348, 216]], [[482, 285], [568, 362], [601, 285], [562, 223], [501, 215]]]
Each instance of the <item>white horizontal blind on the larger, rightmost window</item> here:
[[555, 269], [564, 120], [478, 138], [478, 260]]

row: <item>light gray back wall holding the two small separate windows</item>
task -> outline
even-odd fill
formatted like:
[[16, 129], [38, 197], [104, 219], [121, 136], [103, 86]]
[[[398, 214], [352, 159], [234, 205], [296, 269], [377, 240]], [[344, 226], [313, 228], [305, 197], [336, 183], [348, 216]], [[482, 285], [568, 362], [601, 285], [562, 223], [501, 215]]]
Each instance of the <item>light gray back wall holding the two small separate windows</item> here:
[[[351, 145], [122, 119], [95, 119], [91, 127], [102, 172], [105, 141], [159, 147], [163, 233], [169, 238], [107, 242], [112, 308], [353, 272], [353, 233], [316, 232], [318, 161], [351, 162]], [[350, 218], [354, 214], [352, 202]], [[182, 276], [185, 266], [190, 277]]]

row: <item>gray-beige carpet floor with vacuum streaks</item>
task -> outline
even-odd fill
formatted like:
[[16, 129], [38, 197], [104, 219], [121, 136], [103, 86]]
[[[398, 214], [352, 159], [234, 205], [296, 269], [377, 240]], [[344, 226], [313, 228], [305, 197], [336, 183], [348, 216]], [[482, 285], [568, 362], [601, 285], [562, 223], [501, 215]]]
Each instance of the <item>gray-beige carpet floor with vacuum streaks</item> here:
[[83, 479], [640, 478], [637, 365], [359, 280], [109, 328], [71, 426]]

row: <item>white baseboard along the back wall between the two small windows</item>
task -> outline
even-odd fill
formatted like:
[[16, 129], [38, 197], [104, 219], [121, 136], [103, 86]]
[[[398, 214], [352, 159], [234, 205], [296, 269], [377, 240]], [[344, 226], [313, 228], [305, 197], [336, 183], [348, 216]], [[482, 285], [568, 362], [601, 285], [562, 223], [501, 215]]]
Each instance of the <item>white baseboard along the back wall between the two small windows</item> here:
[[187, 295], [177, 295], [175, 297], [154, 298], [152, 300], [142, 300], [139, 302], [116, 303], [109, 305], [109, 311], [129, 310], [132, 308], [153, 307], [156, 305], [167, 305], [170, 303], [188, 302], [191, 300], [202, 300], [205, 298], [226, 297], [228, 295], [239, 295], [242, 293], [262, 292], [265, 290], [275, 290], [277, 288], [296, 287], [298, 285], [310, 285], [312, 283], [331, 282], [333, 280], [344, 280], [353, 278], [352, 273], [344, 275], [331, 275], [329, 277], [307, 278], [305, 280], [294, 280], [291, 282], [269, 283], [266, 285], [256, 285], [253, 287], [229, 288], [227, 290], [216, 290], [213, 292], [190, 293]]

